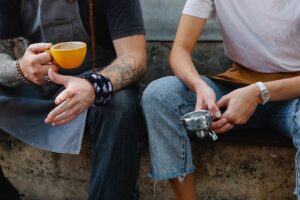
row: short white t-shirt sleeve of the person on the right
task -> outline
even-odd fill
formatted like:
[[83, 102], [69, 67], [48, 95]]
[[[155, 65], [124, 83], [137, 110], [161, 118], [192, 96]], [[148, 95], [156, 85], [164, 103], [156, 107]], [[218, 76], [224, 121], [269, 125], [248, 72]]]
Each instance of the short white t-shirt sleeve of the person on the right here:
[[213, 0], [187, 0], [183, 14], [208, 19], [214, 14]]

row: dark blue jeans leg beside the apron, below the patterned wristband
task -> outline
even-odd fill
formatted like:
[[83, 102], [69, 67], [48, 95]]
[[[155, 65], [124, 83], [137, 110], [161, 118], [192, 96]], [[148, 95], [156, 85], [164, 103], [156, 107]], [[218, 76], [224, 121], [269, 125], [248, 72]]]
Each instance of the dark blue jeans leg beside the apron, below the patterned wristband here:
[[89, 200], [138, 199], [140, 115], [134, 89], [121, 90], [105, 106], [89, 110], [93, 155]]

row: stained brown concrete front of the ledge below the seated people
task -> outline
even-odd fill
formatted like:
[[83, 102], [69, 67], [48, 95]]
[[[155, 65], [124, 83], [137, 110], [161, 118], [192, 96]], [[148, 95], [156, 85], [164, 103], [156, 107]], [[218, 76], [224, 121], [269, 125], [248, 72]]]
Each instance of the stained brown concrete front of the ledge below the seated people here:
[[[87, 199], [90, 146], [78, 156], [44, 152], [0, 134], [0, 163], [26, 200]], [[293, 199], [292, 147], [195, 141], [196, 187], [201, 200]], [[173, 200], [166, 181], [147, 176], [148, 155], [142, 143], [141, 200]], [[155, 197], [155, 198], [154, 198]]]

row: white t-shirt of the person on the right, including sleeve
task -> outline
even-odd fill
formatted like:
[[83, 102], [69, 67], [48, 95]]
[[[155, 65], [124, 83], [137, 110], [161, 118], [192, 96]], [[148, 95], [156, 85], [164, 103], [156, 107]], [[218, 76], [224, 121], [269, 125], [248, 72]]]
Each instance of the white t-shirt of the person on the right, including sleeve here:
[[226, 55], [249, 69], [300, 71], [300, 0], [187, 0], [183, 14], [216, 14]]

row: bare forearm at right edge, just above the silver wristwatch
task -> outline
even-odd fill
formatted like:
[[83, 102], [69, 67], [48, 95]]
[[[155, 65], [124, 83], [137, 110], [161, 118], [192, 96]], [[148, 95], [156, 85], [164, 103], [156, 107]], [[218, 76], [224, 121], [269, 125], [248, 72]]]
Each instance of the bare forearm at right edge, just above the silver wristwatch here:
[[300, 97], [300, 76], [265, 83], [271, 101], [285, 101]]

